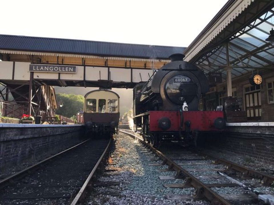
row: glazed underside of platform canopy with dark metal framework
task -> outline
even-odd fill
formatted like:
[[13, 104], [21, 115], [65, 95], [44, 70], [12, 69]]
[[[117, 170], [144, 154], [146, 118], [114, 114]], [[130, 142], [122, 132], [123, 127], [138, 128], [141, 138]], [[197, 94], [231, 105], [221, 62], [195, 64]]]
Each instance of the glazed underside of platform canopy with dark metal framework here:
[[251, 24], [231, 36], [225, 44], [206, 52], [196, 61], [198, 67], [209, 72], [222, 72], [226, 79], [225, 67], [231, 66], [232, 77], [242, 75], [252, 69], [273, 69], [274, 42], [271, 44], [265, 39], [274, 27], [274, 8], [270, 9]]

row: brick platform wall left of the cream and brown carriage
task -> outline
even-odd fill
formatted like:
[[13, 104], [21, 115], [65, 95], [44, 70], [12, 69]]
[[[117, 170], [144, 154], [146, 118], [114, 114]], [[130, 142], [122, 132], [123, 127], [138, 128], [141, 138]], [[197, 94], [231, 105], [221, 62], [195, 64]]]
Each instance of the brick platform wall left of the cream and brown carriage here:
[[76, 145], [83, 131], [83, 126], [0, 126], [0, 169]]

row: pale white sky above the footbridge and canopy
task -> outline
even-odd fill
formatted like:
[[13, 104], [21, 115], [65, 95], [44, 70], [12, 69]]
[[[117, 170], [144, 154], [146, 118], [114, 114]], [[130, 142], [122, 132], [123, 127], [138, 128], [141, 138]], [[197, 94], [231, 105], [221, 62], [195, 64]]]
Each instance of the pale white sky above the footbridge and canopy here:
[[226, 2], [1, 1], [0, 34], [187, 47]]

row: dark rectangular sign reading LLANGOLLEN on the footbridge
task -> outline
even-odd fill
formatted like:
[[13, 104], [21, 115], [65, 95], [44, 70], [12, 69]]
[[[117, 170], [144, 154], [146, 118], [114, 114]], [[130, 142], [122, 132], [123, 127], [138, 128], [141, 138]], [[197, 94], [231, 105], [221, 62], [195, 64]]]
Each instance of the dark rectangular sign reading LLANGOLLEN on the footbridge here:
[[51, 72], [51, 73], [76, 73], [76, 66], [30, 64], [29, 71], [31, 71], [31, 72]]

